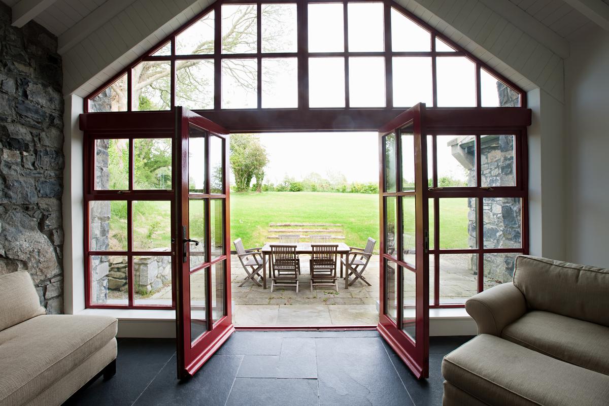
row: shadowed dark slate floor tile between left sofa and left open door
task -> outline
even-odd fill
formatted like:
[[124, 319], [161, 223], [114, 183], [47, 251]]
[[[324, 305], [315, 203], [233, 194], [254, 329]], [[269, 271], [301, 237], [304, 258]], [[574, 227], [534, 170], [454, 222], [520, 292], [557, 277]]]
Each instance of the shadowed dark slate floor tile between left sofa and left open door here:
[[72, 405], [131, 405], [175, 353], [175, 340], [121, 338], [116, 375], [101, 378], [77, 391], [64, 403]]

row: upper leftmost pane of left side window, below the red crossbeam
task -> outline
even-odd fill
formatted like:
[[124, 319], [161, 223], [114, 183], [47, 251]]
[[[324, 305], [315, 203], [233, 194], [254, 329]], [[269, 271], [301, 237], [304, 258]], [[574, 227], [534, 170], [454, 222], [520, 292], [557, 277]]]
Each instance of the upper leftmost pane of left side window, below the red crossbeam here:
[[129, 189], [129, 140], [95, 140], [95, 189]]

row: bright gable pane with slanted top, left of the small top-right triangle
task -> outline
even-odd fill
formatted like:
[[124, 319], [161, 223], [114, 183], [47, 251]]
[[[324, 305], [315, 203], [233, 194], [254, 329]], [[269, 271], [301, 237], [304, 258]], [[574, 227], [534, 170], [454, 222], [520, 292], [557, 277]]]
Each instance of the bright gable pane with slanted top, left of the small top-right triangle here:
[[431, 51], [431, 34], [396, 9], [391, 9], [393, 51]]

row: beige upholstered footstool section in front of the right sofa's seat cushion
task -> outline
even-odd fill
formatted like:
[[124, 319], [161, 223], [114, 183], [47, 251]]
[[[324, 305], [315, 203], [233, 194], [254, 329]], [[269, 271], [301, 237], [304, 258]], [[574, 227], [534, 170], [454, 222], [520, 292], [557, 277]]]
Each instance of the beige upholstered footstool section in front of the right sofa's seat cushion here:
[[609, 376], [482, 334], [446, 355], [448, 382], [489, 405], [607, 405]]

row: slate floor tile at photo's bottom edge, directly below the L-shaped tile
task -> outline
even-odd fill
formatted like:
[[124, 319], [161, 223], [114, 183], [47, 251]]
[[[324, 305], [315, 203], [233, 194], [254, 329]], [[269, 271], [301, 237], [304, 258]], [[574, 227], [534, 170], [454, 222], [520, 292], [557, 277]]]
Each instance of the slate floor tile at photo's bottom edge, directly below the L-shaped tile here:
[[316, 379], [237, 378], [226, 406], [317, 406]]

